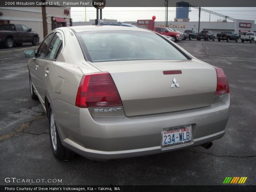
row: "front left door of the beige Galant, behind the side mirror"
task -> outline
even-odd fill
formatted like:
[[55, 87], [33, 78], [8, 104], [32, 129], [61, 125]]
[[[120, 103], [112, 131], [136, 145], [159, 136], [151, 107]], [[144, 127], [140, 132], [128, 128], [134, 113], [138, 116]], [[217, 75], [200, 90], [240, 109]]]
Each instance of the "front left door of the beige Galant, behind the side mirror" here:
[[42, 84], [42, 82], [39, 80], [39, 74], [40, 74], [39, 66], [42, 65], [41, 64], [42, 62], [44, 62], [46, 51], [48, 49], [49, 44], [51, 43], [53, 36], [54, 36], [54, 33], [50, 33], [47, 37], [45, 37], [44, 41], [41, 43], [36, 53], [36, 57], [34, 57], [33, 60], [28, 64], [29, 74], [31, 77], [32, 84], [36, 89], [36, 92], [38, 93], [38, 96], [41, 100], [42, 98], [40, 97], [39, 91], [38, 91], [40, 90], [40, 86]]

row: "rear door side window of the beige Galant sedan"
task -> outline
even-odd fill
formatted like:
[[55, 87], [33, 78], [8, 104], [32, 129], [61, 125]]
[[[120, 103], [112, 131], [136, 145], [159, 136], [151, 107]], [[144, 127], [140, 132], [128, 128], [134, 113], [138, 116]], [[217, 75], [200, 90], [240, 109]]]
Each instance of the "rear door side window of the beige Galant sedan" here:
[[62, 47], [62, 36], [60, 33], [56, 33], [52, 39], [52, 42], [46, 52], [45, 58], [56, 59], [60, 49]]

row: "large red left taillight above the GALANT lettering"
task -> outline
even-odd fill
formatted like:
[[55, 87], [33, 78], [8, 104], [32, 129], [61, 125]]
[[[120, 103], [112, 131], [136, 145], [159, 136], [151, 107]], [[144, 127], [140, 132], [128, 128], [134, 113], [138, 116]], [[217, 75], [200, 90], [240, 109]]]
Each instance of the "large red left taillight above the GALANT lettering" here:
[[84, 75], [76, 94], [76, 107], [122, 106], [116, 85], [107, 72]]

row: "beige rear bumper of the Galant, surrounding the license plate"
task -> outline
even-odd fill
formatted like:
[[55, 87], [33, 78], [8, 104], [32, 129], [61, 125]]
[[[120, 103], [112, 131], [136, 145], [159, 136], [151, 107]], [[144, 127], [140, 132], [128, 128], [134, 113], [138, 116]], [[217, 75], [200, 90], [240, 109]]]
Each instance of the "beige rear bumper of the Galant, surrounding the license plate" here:
[[[144, 156], [198, 146], [221, 138], [229, 117], [229, 94], [208, 107], [136, 117], [95, 117], [87, 108], [51, 103], [62, 144], [89, 159]], [[64, 113], [68, 112], [68, 113]], [[192, 124], [193, 142], [161, 149], [161, 130]]]

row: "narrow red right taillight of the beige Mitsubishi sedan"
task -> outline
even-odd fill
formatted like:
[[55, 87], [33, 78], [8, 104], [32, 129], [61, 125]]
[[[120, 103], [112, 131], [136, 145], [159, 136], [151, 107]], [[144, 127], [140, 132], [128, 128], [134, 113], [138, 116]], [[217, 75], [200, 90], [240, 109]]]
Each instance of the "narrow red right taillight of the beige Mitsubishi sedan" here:
[[227, 77], [222, 68], [214, 67], [217, 73], [217, 88], [215, 95], [222, 95], [229, 93], [229, 86]]

